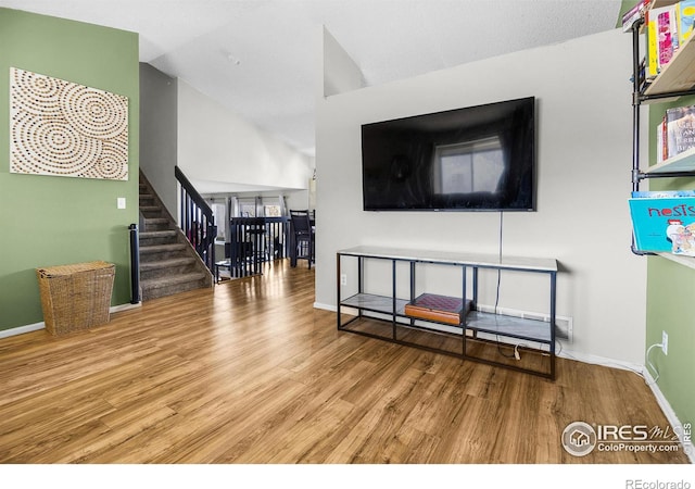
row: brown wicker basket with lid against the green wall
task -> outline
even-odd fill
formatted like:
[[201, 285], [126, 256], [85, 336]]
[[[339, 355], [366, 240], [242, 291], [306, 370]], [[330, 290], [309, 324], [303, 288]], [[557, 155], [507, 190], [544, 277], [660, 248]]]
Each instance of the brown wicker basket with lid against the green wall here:
[[46, 329], [64, 335], [109, 323], [115, 266], [106, 262], [37, 268]]

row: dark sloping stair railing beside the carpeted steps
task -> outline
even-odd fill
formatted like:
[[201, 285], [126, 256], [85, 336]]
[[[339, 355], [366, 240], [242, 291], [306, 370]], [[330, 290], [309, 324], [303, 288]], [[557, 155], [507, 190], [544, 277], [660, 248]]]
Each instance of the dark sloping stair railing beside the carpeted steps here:
[[205, 262], [210, 272], [214, 274], [217, 226], [215, 226], [213, 210], [178, 166], [174, 167], [174, 175], [181, 191], [179, 209], [181, 230], [195, 248], [198, 255]]

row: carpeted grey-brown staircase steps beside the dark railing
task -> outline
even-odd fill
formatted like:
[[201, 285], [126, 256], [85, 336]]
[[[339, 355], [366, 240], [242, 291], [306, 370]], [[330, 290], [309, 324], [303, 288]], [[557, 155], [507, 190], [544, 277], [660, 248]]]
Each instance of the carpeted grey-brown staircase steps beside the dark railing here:
[[140, 172], [140, 288], [142, 301], [212, 288], [212, 273]]

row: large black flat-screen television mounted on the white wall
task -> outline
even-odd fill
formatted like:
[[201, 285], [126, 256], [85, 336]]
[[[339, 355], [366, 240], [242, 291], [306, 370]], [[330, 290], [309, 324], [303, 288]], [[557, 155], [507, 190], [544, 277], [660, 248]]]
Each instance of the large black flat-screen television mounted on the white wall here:
[[535, 98], [362, 126], [365, 211], [535, 211]]

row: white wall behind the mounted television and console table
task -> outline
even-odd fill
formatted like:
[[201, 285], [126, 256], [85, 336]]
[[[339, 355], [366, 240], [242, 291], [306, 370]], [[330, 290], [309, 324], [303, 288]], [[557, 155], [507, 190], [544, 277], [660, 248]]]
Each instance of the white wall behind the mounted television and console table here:
[[[646, 260], [630, 252], [630, 73], [631, 37], [614, 30], [384, 86], [317, 92], [317, 306], [336, 305], [342, 248], [498, 250], [498, 213], [364, 212], [362, 124], [534, 96], [538, 212], [504, 214], [503, 251], [559, 261], [557, 313], [573, 318], [566, 349], [642, 364]], [[430, 278], [438, 288], [448, 280]], [[500, 305], [547, 311], [540, 283], [515, 280], [503, 275]], [[490, 303], [494, 284], [482, 288]]]

